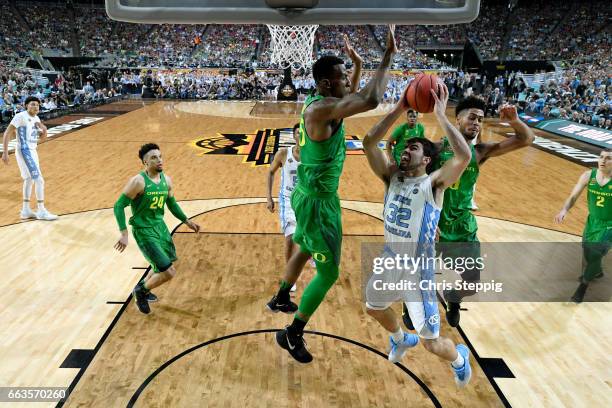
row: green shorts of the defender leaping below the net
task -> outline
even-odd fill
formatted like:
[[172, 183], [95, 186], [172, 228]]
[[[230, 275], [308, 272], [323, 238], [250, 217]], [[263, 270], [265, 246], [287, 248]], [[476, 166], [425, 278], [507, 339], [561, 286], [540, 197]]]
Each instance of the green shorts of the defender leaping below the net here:
[[336, 193], [312, 194], [296, 187], [291, 207], [297, 226], [293, 241], [315, 261], [340, 265], [342, 220], [340, 199]]

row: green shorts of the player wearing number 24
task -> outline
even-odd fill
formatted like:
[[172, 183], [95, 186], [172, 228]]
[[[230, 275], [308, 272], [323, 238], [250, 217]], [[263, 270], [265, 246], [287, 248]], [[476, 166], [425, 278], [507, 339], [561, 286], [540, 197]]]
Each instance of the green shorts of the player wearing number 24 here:
[[165, 223], [149, 228], [132, 228], [132, 235], [153, 272], [164, 272], [176, 261], [174, 242]]

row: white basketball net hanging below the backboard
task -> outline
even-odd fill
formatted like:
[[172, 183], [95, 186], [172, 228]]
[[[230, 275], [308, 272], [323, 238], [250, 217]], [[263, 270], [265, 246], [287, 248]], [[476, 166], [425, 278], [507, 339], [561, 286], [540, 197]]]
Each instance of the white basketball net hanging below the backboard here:
[[309, 69], [314, 61], [314, 34], [318, 27], [268, 25], [272, 36], [270, 61], [281, 68]]

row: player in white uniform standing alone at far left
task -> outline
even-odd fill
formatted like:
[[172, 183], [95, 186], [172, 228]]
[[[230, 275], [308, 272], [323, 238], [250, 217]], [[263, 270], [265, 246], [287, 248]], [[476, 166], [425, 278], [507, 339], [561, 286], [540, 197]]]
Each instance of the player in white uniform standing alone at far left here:
[[[38, 152], [36, 150], [39, 136], [41, 141], [47, 138], [47, 128], [37, 116], [40, 110], [38, 98], [30, 96], [26, 98], [24, 105], [26, 110], [16, 114], [4, 132], [2, 161], [8, 164], [8, 142], [16, 137], [15, 158], [21, 172], [21, 178], [23, 179], [21, 219], [36, 218], [53, 221], [57, 219], [57, 215], [51, 214], [45, 208], [45, 181], [40, 171]], [[33, 212], [30, 208], [32, 185], [35, 186], [36, 199], [38, 200], [38, 211], [36, 212]]]

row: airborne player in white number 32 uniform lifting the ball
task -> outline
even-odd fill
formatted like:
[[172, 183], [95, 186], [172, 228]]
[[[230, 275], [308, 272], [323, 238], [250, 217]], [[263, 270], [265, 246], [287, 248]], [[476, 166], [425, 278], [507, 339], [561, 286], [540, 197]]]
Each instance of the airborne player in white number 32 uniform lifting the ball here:
[[[434, 112], [455, 153], [440, 169], [431, 172], [437, 150], [435, 144], [427, 139], [407, 140], [399, 166], [378, 147], [391, 125], [408, 109], [404, 97], [363, 140], [370, 167], [386, 187], [383, 213], [386, 245], [380, 259], [396, 260], [399, 255], [402, 259], [420, 260], [416, 267], [406, 268], [414, 265], [408, 262], [387, 270], [376, 270], [375, 263], [374, 273], [366, 287], [366, 308], [368, 314], [391, 333], [390, 361], [399, 362], [420, 338], [427, 351], [451, 362], [456, 383], [465, 386], [471, 378], [469, 350], [463, 344], [455, 347], [452, 340], [440, 337], [434, 263], [428, 262], [435, 257], [435, 235], [444, 190], [459, 179], [471, 157], [467, 142], [446, 117], [448, 89], [442, 82], [439, 85], [440, 97], [431, 91], [436, 101]], [[406, 282], [414, 286], [399, 291], [383, 286]], [[391, 309], [395, 301], [405, 302], [418, 335], [402, 331]]]

